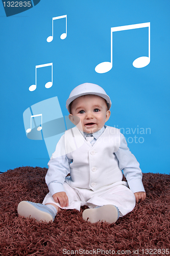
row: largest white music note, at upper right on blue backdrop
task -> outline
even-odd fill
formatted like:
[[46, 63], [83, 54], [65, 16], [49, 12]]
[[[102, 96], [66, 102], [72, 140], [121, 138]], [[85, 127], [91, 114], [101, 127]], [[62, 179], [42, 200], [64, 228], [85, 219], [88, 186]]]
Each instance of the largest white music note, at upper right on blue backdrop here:
[[120, 27], [111, 28], [111, 62], [102, 62], [95, 67], [95, 72], [97, 73], [106, 73], [112, 69], [113, 66], [113, 53], [112, 53], [112, 33], [116, 31], [130, 30], [130, 29], [139, 29], [139, 28], [148, 28], [149, 29], [149, 56], [142, 56], [133, 61], [133, 66], [135, 68], [144, 68], [150, 63], [150, 22], [140, 23], [133, 25], [126, 25]]

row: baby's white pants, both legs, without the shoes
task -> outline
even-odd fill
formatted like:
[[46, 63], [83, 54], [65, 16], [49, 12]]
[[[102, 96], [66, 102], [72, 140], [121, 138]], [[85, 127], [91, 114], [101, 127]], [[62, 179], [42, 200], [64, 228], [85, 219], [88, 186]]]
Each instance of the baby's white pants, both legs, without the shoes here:
[[116, 182], [110, 186], [93, 191], [87, 188], [72, 188], [68, 183], [63, 184], [68, 197], [69, 205], [61, 207], [56, 203], [50, 193], [46, 195], [43, 204], [53, 203], [62, 209], [77, 209], [87, 205], [89, 208], [103, 206], [106, 204], [115, 205], [120, 211], [120, 217], [125, 216], [135, 207], [136, 200], [134, 193], [128, 188], [125, 181]]

